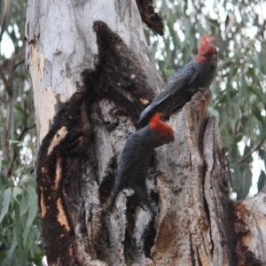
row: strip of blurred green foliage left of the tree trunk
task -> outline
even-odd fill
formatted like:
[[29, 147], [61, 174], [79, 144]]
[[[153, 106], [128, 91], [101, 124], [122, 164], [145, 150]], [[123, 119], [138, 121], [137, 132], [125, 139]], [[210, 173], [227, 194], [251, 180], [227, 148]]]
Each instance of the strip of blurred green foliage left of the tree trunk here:
[[42, 265], [43, 244], [35, 178], [33, 94], [25, 70], [27, 1], [0, 5], [0, 264]]

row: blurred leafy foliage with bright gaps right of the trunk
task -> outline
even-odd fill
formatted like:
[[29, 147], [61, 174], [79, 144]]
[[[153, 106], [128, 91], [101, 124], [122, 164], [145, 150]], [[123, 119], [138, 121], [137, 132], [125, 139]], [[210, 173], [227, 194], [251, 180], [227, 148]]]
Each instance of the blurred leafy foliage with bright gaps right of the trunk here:
[[[165, 35], [153, 35], [145, 27], [153, 57], [166, 75], [195, 56], [201, 35], [214, 36], [219, 63], [210, 88], [213, 100], [209, 113], [219, 121], [232, 191], [237, 192], [238, 199], [246, 198], [252, 185], [253, 153], [259, 152], [259, 158], [265, 161], [261, 156], [266, 150], [266, 31], [262, 5], [260, 1], [158, 0]], [[262, 189], [262, 177], [259, 183]]]

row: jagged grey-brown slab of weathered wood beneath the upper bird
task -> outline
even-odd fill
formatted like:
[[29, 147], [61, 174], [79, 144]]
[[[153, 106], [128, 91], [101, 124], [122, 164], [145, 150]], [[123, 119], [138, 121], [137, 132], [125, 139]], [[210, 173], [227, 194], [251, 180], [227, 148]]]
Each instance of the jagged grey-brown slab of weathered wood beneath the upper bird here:
[[156, 265], [236, 263], [223, 145], [215, 118], [206, 116], [210, 98], [209, 90], [196, 94], [170, 120], [176, 141], [163, 147], [168, 156], [160, 157], [166, 175], [157, 177]]

